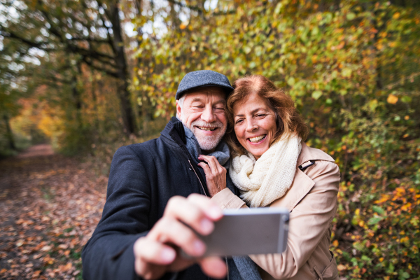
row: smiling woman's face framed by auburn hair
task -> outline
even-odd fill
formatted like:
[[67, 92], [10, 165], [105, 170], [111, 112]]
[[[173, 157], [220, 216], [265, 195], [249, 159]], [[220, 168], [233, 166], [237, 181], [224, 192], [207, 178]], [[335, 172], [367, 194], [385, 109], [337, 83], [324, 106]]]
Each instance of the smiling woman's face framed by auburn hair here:
[[258, 160], [276, 134], [276, 115], [268, 102], [251, 94], [233, 106], [234, 129], [239, 143]]

